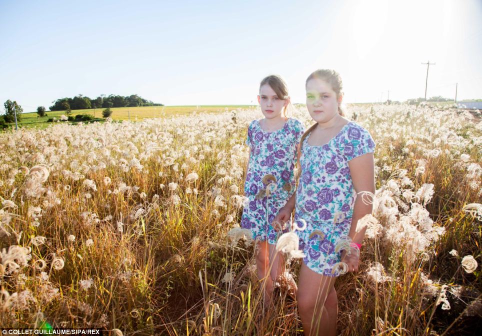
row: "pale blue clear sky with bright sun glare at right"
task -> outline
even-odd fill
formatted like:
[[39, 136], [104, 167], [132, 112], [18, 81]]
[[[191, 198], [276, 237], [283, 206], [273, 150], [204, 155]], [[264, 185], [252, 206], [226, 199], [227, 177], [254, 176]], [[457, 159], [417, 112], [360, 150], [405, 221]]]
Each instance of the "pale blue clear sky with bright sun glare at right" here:
[[334, 68], [345, 102], [482, 98], [481, 0], [0, 0], [0, 112], [79, 93], [250, 104], [278, 73], [293, 102]]

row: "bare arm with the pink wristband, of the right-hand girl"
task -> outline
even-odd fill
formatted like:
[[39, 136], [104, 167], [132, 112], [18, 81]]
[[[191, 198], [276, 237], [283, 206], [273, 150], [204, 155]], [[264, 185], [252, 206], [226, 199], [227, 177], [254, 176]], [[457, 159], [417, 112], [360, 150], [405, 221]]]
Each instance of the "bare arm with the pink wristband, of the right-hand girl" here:
[[[361, 227], [359, 231], [356, 232], [356, 225], [360, 218], [365, 214], [370, 214], [373, 209], [373, 204], [365, 204], [360, 191], [369, 191], [375, 193], [375, 173], [374, 173], [374, 163], [373, 163], [373, 153], [366, 153], [358, 157], [353, 158], [348, 161], [348, 167], [350, 168], [351, 181], [353, 183], [353, 188], [357, 193], [355, 199], [355, 204], [353, 207], [353, 215], [351, 217], [351, 226], [348, 235], [351, 237], [352, 241], [355, 243], [361, 243], [366, 231], [366, 225]], [[371, 197], [367, 197], [371, 199]]]

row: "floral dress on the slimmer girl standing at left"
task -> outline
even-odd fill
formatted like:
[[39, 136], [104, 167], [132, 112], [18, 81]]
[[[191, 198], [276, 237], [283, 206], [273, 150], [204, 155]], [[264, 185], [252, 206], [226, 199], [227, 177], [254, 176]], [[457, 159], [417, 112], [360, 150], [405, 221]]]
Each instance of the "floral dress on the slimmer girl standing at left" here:
[[[288, 118], [282, 128], [272, 132], [263, 130], [259, 120], [249, 124], [246, 144], [251, 154], [244, 183], [249, 204], [243, 209], [241, 227], [250, 229], [253, 239], [276, 243], [277, 232], [271, 223], [294, 192], [296, 147], [303, 132], [303, 124], [295, 118]], [[276, 180], [276, 190], [268, 196], [265, 190], [272, 180], [263, 181], [267, 174]]]

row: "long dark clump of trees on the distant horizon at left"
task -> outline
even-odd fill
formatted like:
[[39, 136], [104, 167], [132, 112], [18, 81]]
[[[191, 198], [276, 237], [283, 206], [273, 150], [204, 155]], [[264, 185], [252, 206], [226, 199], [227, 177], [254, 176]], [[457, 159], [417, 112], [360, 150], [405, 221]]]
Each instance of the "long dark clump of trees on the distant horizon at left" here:
[[52, 101], [52, 103], [53, 105], [49, 107], [51, 111], [107, 107], [163, 106], [163, 104], [144, 99], [137, 94], [131, 94], [128, 96], [114, 94], [105, 96], [104, 94], [101, 94], [95, 99], [78, 94], [73, 98], [59, 98]]

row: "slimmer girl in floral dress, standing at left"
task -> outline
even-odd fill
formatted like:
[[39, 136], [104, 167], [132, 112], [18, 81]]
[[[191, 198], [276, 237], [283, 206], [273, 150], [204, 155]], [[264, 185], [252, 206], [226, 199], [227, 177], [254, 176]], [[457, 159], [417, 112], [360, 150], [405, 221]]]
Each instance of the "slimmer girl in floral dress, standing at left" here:
[[[270, 75], [261, 80], [257, 100], [264, 118], [253, 120], [247, 130], [250, 150], [244, 194], [249, 205], [243, 209], [241, 227], [250, 229], [257, 240], [256, 269], [264, 281], [266, 306], [271, 301], [273, 283], [284, 270], [282, 256], [275, 254], [277, 232], [271, 224], [294, 191], [296, 148], [304, 127], [286, 115], [290, 100], [281, 77]], [[295, 290], [296, 284], [292, 285]]]

